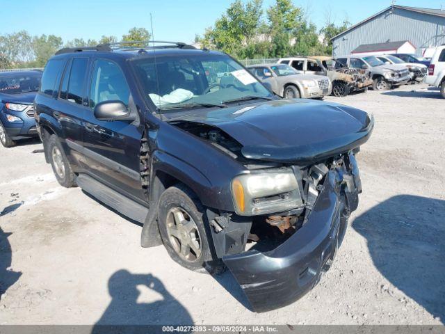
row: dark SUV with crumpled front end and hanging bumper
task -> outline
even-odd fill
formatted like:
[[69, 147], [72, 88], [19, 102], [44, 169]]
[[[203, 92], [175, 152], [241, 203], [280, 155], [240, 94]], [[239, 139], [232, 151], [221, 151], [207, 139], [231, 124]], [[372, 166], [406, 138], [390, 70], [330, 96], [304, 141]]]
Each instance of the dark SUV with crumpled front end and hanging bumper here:
[[227, 54], [159, 43], [48, 61], [35, 118], [56, 179], [142, 222], [142, 246], [195, 271], [227, 266], [253, 310], [296, 301], [357, 208], [373, 118], [282, 100]]

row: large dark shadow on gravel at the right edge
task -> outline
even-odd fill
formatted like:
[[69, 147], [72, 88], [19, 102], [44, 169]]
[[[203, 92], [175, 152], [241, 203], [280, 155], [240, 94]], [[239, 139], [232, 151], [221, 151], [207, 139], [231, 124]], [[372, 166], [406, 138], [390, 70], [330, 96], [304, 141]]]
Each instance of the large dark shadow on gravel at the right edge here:
[[445, 323], [445, 200], [394, 196], [352, 225], [380, 273]]

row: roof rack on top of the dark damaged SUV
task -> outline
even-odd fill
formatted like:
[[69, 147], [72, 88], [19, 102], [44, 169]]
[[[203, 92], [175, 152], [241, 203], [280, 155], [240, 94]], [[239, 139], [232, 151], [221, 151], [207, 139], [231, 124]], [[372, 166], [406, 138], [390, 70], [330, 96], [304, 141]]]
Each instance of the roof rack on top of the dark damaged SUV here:
[[[161, 45], [154, 45], [161, 44]], [[71, 52], [82, 51], [134, 51], [145, 49], [196, 49], [193, 45], [184, 42], [167, 42], [165, 40], [131, 40], [125, 42], [99, 44], [95, 47], [64, 47], [56, 52], [56, 54], [67, 54]]]

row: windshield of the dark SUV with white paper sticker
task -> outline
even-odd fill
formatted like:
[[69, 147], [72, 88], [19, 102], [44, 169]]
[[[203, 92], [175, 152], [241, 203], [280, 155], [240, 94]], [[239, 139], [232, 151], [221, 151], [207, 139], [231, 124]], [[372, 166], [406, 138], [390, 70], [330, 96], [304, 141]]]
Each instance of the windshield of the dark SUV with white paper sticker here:
[[250, 72], [232, 58], [208, 53], [134, 60], [147, 97], [159, 111], [225, 106], [241, 100], [273, 98]]

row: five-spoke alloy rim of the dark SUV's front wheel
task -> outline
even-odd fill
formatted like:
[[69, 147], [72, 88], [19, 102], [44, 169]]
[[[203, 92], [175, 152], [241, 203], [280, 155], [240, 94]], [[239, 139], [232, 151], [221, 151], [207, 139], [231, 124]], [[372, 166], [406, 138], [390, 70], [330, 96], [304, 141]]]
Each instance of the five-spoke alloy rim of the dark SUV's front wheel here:
[[179, 257], [187, 262], [200, 260], [201, 237], [193, 218], [181, 207], [172, 207], [166, 225], [170, 243]]

